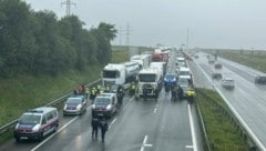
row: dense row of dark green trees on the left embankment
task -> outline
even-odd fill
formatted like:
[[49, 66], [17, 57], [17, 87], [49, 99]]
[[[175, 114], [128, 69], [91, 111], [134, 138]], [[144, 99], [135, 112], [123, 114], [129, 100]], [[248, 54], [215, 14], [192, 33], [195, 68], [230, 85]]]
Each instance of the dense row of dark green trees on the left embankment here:
[[58, 19], [20, 0], [0, 0], [0, 77], [57, 76], [111, 60], [114, 24], [85, 29], [76, 16]]

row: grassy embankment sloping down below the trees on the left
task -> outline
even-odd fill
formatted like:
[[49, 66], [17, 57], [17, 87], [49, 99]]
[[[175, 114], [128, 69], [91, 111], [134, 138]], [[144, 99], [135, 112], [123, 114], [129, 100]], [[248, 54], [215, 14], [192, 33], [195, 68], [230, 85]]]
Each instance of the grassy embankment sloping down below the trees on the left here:
[[[114, 47], [113, 49], [117, 49]], [[129, 60], [126, 48], [113, 51], [112, 62]], [[100, 78], [102, 66], [90, 66], [84, 71], [70, 70], [57, 77], [21, 76], [14, 79], [0, 79], [0, 127], [19, 118], [28, 109], [44, 105], [81, 83]], [[10, 134], [2, 135], [0, 142]]]

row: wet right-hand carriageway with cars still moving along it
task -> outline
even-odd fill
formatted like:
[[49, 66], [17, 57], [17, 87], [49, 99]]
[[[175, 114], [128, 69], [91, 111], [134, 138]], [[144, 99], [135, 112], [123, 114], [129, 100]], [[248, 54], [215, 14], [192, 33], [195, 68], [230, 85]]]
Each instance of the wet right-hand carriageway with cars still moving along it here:
[[[194, 59], [194, 61], [203, 71], [196, 71], [198, 77], [207, 77], [205, 80], [197, 80], [197, 84], [216, 89], [227, 103], [233, 107], [238, 119], [244, 122], [243, 124], [256, 135], [257, 141], [264, 145], [263, 150], [265, 150], [266, 121], [264, 118], [266, 117], [266, 85], [254, 83], [255, 76], [262, 72], [222, 58], [218, 58], [217, 62], [221, 62], [223, 68], [214, 69], [214, 66], [208, 63], [205, 53], [200, 53], [200, 58]], [[212, 73], [214, 71], [221, 72], [224, 78], [233, 78], [235, 80], [235, 89], [224, 89], [221, 85], [221, 81], [213, 80]], [[206, 81], [208, 81], [208, 83]]]

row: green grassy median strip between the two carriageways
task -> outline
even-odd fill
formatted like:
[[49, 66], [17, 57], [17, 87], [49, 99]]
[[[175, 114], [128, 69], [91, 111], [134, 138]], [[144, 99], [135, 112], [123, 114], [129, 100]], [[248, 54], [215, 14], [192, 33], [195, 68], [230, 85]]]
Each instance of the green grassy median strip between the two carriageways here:
[[[227, 109], [224, 100], [213, 90], [201, 89], [223, 108]], [[241, 137], [236, 127], [218, 108], [209, 104], [198, 95], [198, 104], [206, 127], [206, 132], [213, 151], [247, 151], [248, 144]]]

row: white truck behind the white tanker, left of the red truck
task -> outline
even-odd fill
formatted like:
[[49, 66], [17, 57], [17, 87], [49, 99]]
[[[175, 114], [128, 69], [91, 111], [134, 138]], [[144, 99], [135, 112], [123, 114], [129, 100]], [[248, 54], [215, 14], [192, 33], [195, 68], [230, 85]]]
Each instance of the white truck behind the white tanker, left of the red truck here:
[[152, 56], [151, 54], [136, 54], [131, 57], [131, 61], [135, 61], [140, 64], [140, 68], [149, 68], [151, 61], [152, 61]]

